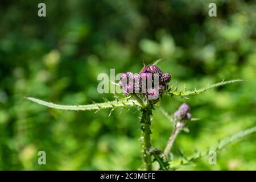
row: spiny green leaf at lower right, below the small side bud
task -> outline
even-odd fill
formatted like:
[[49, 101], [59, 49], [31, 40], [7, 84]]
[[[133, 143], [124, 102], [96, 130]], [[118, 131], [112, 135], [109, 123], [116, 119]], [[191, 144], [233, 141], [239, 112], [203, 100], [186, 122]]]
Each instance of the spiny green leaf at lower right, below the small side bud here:
[[[240, 133], [231, 135], [230, 137], [228, 137], [226, 139], [219, 140], [218, 143], [212, 147], [212, 150], [213, 151], [221, 150], [221, 148], [223, 148], [227, 144], [232, 143], [237, 139], [246, 137], [247, 135], [254, 133], [254, 132], [256, 132], [256, 126], [251, 127], [250, 129], [247, 129], [247, 130], [243, 130]], [[170, 162], [170, 169], [176, 169], [176, 168], [180, 168], [184, 165], [188, 165], [204, 156], [207, 156], [208, 154], [209, 154], [209, 150], [207, 150], [205, 152], [195, 152], [195, 154], [188, 156], [185, 159], [181, 158], [181, 159], [175, 160], [173, 162]]]

